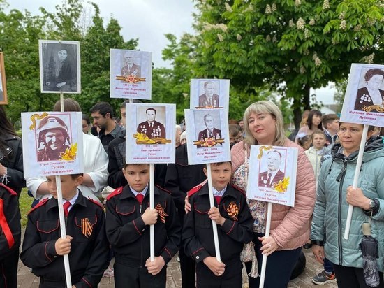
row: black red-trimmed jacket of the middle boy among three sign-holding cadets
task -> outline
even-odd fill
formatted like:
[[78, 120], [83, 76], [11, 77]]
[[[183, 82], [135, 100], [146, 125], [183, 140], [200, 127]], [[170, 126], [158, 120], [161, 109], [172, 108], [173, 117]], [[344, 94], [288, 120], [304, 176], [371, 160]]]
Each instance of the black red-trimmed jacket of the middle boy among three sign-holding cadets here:
[[[149, 187], [141, 205], [128, 185], [107, 197], [107, 237], [118, 263], [145, 267], [145, 261], [150, 257], [149, 225], [144, 224], [141, 215], [148, 207]], [[154, 224], [154, 254], [163, 257], [167, 264], [179, 250], [181, 227], [172, 197], [157, 187], [154, 187], [154, 208], [158, 210]]]

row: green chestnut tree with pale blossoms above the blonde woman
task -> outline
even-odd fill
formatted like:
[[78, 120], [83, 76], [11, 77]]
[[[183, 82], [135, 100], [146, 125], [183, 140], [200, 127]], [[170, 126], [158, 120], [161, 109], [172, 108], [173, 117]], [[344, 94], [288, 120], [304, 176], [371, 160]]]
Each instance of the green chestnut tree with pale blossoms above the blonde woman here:
[[196, 8], [197, 74], [230, 78], [249, 95], [284, 85], [296, 123], [310, 88], [343, 80], [351, 62], [383, 62], [381, 0], [205, 0]]

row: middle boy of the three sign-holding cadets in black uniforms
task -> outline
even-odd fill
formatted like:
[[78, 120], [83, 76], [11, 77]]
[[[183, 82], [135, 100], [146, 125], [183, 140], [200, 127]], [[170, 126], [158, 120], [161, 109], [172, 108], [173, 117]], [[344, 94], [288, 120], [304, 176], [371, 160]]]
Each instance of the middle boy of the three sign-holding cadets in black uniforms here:
[[[179, 250], [181, 228], [170, 194], [154, 187], [149, 208], [149, 164], [124, 164], [128, 182], [107, 197], [107, 237], [115, 252], [115, 287], [165, 288], [166, 265]], [[149, 225], [154, 224], [154, 261]]]

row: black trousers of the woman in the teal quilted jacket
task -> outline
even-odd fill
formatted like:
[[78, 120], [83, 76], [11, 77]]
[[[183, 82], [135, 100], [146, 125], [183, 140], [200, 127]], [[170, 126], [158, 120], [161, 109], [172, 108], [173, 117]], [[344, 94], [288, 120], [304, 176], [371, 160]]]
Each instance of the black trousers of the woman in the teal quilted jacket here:
[[[333, 264], [334, 274], [336, 275], [337, 287], [339, 288], [369, 288], [365, 284], [364, 271], [362, 268], [346, 267]], [[380, 276], [380, 284], [377, 287], [383, 288], [383, 273]]]

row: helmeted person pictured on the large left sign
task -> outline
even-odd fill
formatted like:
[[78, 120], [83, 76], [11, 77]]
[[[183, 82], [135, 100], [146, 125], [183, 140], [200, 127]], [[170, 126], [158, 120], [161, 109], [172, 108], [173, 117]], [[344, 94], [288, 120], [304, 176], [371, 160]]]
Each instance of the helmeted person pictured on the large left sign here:
[[55, 116], [47, 116], [38, 124], [38, 161], [52, 161], [61, 158], [71, 145], [68, 128], [63, 120]]

